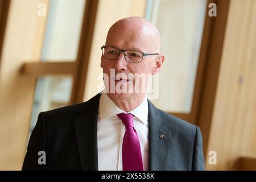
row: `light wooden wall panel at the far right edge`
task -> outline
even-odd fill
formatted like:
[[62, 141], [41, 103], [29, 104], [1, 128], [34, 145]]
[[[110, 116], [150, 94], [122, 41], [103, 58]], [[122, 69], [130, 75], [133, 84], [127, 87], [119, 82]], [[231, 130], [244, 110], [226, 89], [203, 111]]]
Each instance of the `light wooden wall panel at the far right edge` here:
[[256, 158], [255, 93], [256, 1], [231, 0], [207, 147], [217, 164], [206, 158], [207, 169], [232, 170], [240, 157]]

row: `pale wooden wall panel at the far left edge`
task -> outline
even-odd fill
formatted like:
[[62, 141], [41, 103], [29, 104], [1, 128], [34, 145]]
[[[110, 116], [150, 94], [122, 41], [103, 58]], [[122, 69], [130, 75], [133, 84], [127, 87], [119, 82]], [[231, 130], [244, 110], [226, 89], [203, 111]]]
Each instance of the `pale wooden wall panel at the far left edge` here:
[[24, 60], [40, 60], [46, 17], [38, 3], [10, 2], [0, 75], [0, 170], [19, 170], [27, 147], [36, 78], [20, 75]]

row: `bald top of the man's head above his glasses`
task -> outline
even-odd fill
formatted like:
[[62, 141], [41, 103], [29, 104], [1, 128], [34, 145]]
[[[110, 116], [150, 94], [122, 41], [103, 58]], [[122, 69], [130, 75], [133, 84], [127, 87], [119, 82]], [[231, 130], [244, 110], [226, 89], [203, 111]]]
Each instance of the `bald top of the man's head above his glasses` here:
[[[117, 40], [123, 45], [112, 45]], [[135, 44], [135, 45], [134, 45]], [[110, 27], [106, 38], [106, 45], [119, 48], [140, 47], [141, 51], [154, 51], [160, 53], [160, 34], [158, 29], [148, 20], [133, 16], [118, 20]], [[135, 47], [134, 47], [135, 46]]]

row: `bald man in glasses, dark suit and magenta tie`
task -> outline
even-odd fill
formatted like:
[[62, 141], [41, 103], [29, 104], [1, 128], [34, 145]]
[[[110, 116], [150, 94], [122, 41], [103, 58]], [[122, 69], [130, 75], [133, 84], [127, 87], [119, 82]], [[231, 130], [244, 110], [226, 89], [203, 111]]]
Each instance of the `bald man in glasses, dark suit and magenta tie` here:
[[148, 77], [138, 77], [164, 62], [157, 28], [139, 17], [118, 20], [101, 49], [105, 91], [40, 113], [23, 170], [203, 170], [199, 127], [157, 109], [143, 91]]

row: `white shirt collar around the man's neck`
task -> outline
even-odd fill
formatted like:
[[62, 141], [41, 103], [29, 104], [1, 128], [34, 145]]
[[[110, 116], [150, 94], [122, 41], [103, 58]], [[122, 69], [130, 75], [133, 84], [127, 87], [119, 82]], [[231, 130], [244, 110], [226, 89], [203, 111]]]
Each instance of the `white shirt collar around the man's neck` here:
[[[101, 94], [99, 110], [100, 110], [100, 121], [113, 117], [114, 115], [117, 115], [119, 113], [127, 113], [122, 109], [120, 109], [117, 105], [115, 105], [115, 103], [109, 98], [109, 96], [105, 92]], [[129, 111], [128, 113], [133, 114], [144, 124], [147, 123], [147, 115], [148, 115], [147, 96], [144, 98], [144, 100], [140, 105], [138, 105], [136, 108]]]

